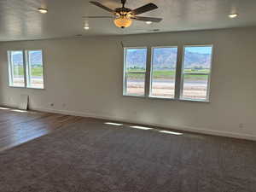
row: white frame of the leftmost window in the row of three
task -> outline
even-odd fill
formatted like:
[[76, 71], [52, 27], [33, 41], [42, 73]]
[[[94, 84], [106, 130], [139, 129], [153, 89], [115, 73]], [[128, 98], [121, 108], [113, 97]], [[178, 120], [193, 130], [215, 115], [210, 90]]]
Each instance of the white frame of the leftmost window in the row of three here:
[[[144, 95], [136, 95], [136, 94], [128, 94], [127, 93], [127, 73], [126, 73], [126, 49], [146, 49], [146, 69], [145, 69], [145, 78], [144, 78]], [[124, 64], [123, 64], [123, 96], [138, 96], [144, 97], [146, 96], [146, 77], [147, 77], [147, 64], [148, 64], [148, 48], [147, 47], [125, 47], [124, 48]]]

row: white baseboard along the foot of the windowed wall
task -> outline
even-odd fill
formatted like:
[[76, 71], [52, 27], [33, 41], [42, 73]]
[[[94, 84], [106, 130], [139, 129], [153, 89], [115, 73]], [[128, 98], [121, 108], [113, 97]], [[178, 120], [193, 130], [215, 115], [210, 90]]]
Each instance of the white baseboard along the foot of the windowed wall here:
[[[4, 106], [9, 106], [9, 105], [4, 105]], [[9, 107], [15, 108], [16, 106], [9, 106]], [[243, 134], [243, 133], [234, 133], [229, 131], [216, 131], [216, 130], [209, 130], [209, 129], [191, 127], [191, 126], [180, 126], [180, 125], [148, 124], [148, 122], [145, 122], [143, 120], [134, 121], [131, 119], [113, 117], [108, 115], [99, 115], [96, 113], [83, 113], [83, 112], [69, 111], [69, 110], [58, 110], [53, 108], [31, 108], [31, 109], [36, 111], [41, 111], [41, 112], [48, 112], [48, 113], [61, 113], [61, 114], [67, 114], [67, 115], [96, 118], [96, 119], [106, 119], [108, 121], [111, 120], [111, 121], [121, 121], [121, 122], [139, 124], [139, 125], [148, 125], [148, 126], [151, 125], [151, 126], [157, 126], [157, 127], [162, 127], [165, 129], [172, 129], [177, 131], [189, 131], [189, 132], [201, 133], [201, 134], [212, 135], [212, 136], [232, 137], [232, 138], [256, 141], [256, 136]]]

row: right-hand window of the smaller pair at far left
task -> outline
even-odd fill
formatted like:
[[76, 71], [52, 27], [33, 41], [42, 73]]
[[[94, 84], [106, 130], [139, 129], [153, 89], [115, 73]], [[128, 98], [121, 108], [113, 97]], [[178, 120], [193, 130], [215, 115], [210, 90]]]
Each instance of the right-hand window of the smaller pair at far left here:
[[27, 87], [44, 89], [42, 50], [27, 50]]

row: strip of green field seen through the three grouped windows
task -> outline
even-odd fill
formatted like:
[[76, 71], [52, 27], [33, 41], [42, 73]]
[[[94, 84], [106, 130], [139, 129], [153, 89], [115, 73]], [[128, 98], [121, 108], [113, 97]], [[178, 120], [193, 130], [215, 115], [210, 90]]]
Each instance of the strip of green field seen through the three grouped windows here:
[[[130, 79], [143, 79], [145, 70], [142, 69], [128, 69], [128, 78]], [[207, 69], [185, 69], [185, 73], [209, 73]], [[175, 79], [175, 70], [154, 70], [153, 72], [154, 79]], [[195, 80], [205, 80], [207, 75], [203, 74], [186, 74], [186, 79], [195, 79]]]

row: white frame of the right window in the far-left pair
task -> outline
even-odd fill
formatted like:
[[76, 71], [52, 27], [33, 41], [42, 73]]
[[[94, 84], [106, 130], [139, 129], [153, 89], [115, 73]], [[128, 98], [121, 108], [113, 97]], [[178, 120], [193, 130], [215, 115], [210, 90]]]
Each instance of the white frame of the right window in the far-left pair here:
[[[42, 67], [43, 67], [43, 88], [31, 86], [31, 82], [30, 82], [31, 81], [31, 65], [30, 65], [29, 51], [41, 51]], [[44, 56], [43, 56], [43, 50], [42, 49], [26, 49], [25, 50], [25, 55], [26, 55], [26, 88], [44, 90]]]

